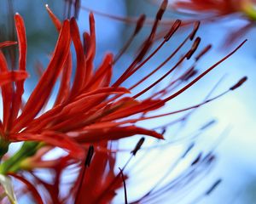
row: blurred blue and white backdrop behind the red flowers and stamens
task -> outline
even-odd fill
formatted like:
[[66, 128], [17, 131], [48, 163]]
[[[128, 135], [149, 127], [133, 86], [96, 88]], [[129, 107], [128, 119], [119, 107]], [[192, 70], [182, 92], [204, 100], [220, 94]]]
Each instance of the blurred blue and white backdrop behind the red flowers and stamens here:
[[[0, 25], [1, 34], [8, 34], [9, 21], [8, 3], [1, 0], [0, 6]], [[64, 3], [62, 0], [37, 0], [37, 1], [18, 1], [13, 0], [14, 11], [19, 12], [26, 22], [26, 33], [28, 39], [28, 71], [31, 74], [30, 79], [26, 82], [26, 94], [32, 91], [32, 88], [37, 82], [37, 73], [34, 69], [37, 61], [43, 63], [44, 67], [47, 65], [49, 57], [48, 54], [54, 49], [55, 41], [57, 39], [57, 32], [53, 26], [49, 16], [44, 8], [44, 4], [48, 3], [49, 7], [56, 15], [62, 16]], [[88, 30], [88, 10], [86, 8], [100, 11], [105, 14], [113, 14], [116, 16], [138, 16], [139, 14], [146, 14], [148, 18], [154, 18], [157, 11], [157, 6], [154, 3], [149, 3], [147, 0], [87, 0], [82, 1], [84, 8], [79, 13], [79, 26], [81, 31]], [[164, 15], [164, 20], [182, 19], [186, 16], [167, 11]], [[247, 76], [248, 81], [242, 88], [239, 88], [234, 93], [225, 95], [223, 98], [205, 105], [189, 119], [187, 126], [181, 131], [178, 127], [168, 129], [166, 133], [167, 138], [184, 137], [195, 133], [202, 124], [212, 119], [218, 122], [210, 130], [207, 130], [203, 136], [198, 139], [197, 149], [192, 152], [196, 155], [201, 150], [212, 148], [218, 156], [218, 162], [211, 172], [203, 175], [201, 181], [195, 184], [191, 191], [185, 192], [183, 200], [177, 198], [180, 203], [190, 203], [193, 195], [205, 190], [209, 184], [216, 178], [223, 178], [223, 183], [218, 186], [212, 195], [201, 200], [200, 203], [256, 203], [256, 107], [255, 107], [255, 84], [256, 84], [256, 50], [255, 50], [255, 28], [251, 29], [246, 36], [238, 39], [238, 42], [230, 47], [224, 47], [224, 42], [229, 37], [229, 33], [236, 26], [240, 26], [243, 22], [234, 20], [232, 17], [226, 18], [218, 22], [212, 22], [207, 25], [202, 25], [198, 35], [202, 37], [201, 48], [208, 43], [213, 45], [209, 54], [197, 65], [199, 70], [205, 70], [210, 65], [214, 64], [218, 59], [221, 59], [224, 54], [227, 54], [231, 48], [236, 44], [248, 39], [247, 43], [230, 59], [219, 65], [218, 68], [212, 71], [207, 77], [198, 82], [189, 91], [182, 94], [178, 99], [172, 101], [166, 107], [166, 111], [177, 110], [189, 105], [195, 105], [201, 102], [202, 99], [211, 91], [212, 87], [218, 80], [224, 76], [223, 82], [218, 86], [214, 93], [218, 94], [225, 88], [229, 88], [234, 82], [237, 82], [241, 77]], [[126, 24], [120, 20], [113, 20], [111, 18], [96, 14], [96, 65], [101, 62], [102, 56], [106, 52], [113, 52], [117, 54], [122, 48], [125, 41], [130, 37], [134, 25]], [[191, 29], [191, 28], [190, 28]], [[124, 71], [127, 62], [133, 59], [137, 51], [137, 44], [143, 41], [149, 31], [148, 26], [143, 28], [142, 33], [132, 43], [131, 48], [119, 60], [119, 63], [114, 67], [116, 76]], [[155, 67], [162, 62], [171, 50], [176, 48], [177, 44], [181, 42], [183, 37], [189, 33], [189, 27], [179, 31], [176, 37], [168, 46], [162, 48], [160, 54], [157, 54], [143, 69], [147, 72], [147, 67]], [[4, 36], [3, 35], [3, 36]], [[7, 35], [8, 36], [8, 35]], [[172, 61], [170, 64], [172, 65]], [[160, 76], [165, 69], [158, 72]], [[186, 64], [185, 64], [186, 65]], [[157, 75], [156, 75], [157, 76]], [[152, 78], [151, 82], [153, 82]], [[150, 82], [150, 81], [149, 81]], [[148, 84], [149, 84], [148, 82]], [[129, 84], [129, 82], [127, 82]], [[175, 117], [165, 117], [162, 120], [155, 122], [143, 122], [143, 126], [157, 127], [161, 124], [172, 121]], [[177, 135], [176, 135], [177, 134]], [[150, 139], [149, 139], [150, 140]], [[131, 147], [131, 143], [135, 144], [137, 138], [124, 139], [121, 144], [122, 147]], [[153, 143], [148, 141], [148, 145]], [[184, 144], [189, 143], [189, 139], [184, 139]], [[143, 191], [148, 189], [148, 186], [153, 185], [154, 182], [160, 178], [160, 175], [168, 169], [170, 162], [175, 160], [181, 150], [183, 150], [183, 143], [172, 144], [168, 148], [150, 150], [148, 156], [143, 159], [143, 164], [135, 166], [130, 169], [131, 180], [128, 183], [128, 195], [132, 198], [137, 194], [143, 194]], [[125, 162], [129, 153], [121, 153], [119, 155], [119, 165]], [[141, 155], [143, 156], [143, 152]], [[158, 159], [156, 159], [158, 158]], [[134, 161], [136, 163], [136, 161]], [[136, 164], [135, 164], [136, 165]], [[186, 161], [183, 166], [186, 166]], [[178, 171], [178, 170], [177, 170]], [[143, 172], [143, 173], [142, 173]], [[175, 173], [174, 173], [175, 174]], [[173, 175], [174, 175], [173, 174]], [[150, 179], [148, 179], [150, 178]], [[132, 186], [132, 188], [129, 188]], [[122, 191], [119, 192], [114, 203], [122, 203]], [[175, 194], [170, 194], [163, 197], [161, 203], [176, 203]], [[27, 203], [27, 202], [26, 202]]]

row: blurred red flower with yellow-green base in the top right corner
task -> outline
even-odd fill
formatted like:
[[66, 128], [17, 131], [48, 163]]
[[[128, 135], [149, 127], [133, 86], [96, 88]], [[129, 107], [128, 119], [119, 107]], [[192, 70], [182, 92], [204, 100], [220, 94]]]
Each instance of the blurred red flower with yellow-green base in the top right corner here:
[[226, 42], [229, 45], [245, 35], [255, 25], [256, 11], [254, 3], [256, 3], [254, 0], [177, 0], [172, 3], [171, 7], [182, 13], [195, 14], [195, 18], [206, 22], [217, 21], [225, 17], [232, 20], [243, 20], [242, 26], [237, 26], [229, 34]]

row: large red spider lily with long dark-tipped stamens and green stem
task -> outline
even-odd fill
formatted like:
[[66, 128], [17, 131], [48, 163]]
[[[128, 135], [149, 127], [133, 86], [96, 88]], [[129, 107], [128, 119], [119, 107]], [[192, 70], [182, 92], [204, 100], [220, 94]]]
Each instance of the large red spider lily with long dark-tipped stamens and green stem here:
[[[0, 54], [0, 79], [3, 99], [3, 122], [0, 126], [1, 157], [3, 159], [0, 165], [0, 173], [3, 179], [0, 179], [0, 183], [3, 185], [5, 195], [8, 195], [9, 201], [15, 203], [15, 195], [9, 190], [11, 185], [9, 176], [19, 179], [26, 186], [17, 191], [16, 196], [21, 196], [27, 192], [32, 193], [34, 200], [38, 203], [84, 203], [84, 201], [86, 203], [109, 203], [113, 201], [116, 190], [122, 185], [125, 187], [125, 180], [128, 178], [125, 167], [130, 161], [127, 161], [125, 167], [120, 168], [119, 173], [115, 172], [116, 152], [119, 151], [117, 141], [137, 134], [164, 139], [163, 133], [137, 127], [137, 122], [195, 110], [201, 105], [235, 90], [247, 80], [247, 77], [241, 78], [239, 82], [228, 88], [223, 94], [212, 97], [212, 99], [207, 98], [201, 104], [191, 105], [183, 110], [148, 116], [148, 113], [159, 110], [166, 105], [166, 102], [176, 98], [193, 86], [195, 82], [198, 82], [208, 72], [234, 54], [245, 42], [242, 42], [230, 54], [227, 54], [201, 74], [197, 75], [194, 67], [178, 72], [179, 76], [167, 84], [165, 88], [148, 97], [143, 97], [150, 89], [170, 76], [173, 71], [179, 70], [178, 67], [184, 60], [191, 59], [201, 42], [201, 38], [196, 37], [199, 22], [195, 22], [195, 26], [189, 35], [164, 62], [147, 73], [146, 76], [137, 79], [137, 82], [131, 84], [130, 87], [121, 86], [127, 79], [142, 69], [143, 65], [172, 39], [172, 36], [180, 27], [181, 21], [177, 20], [166, 32], [158, 47], [150, 51], [166, 6], [167, 1], [164, 1], [137, 56], [115, 82], [112, 82], [113, 66], [125, 52], [125, 48], [129, 46], [132, 39], [136, 37], [137, 32], [143, 27], [145, 17], [142, 16], [137, 20], [137, 26], [131, 39], [120, 51], [118, 57], [113, 57], [113, 54], [110, 53], [106, 54], [102, 59], [102, 64], [95, 69], [96, 31], [94, 15], [90, 14], [90, 32], [84, 32], [84, 42], [82, 42], [76, 20], [72, 18], [61, 22], [46, 6], [51, 20], [53, 20], [56, 30], [59, 32], [59, 38], [48, 67], [24, 105], [22, 105], [22, 95], [25, 78], [27, 77], [26, 29], [20, 14], [15, 14], [20, 54], [18, 71], [9, 71], [5, 57], [2, 53]], [[166, 74], [138, 93], [134, 93], [134, 88], [143, 84], [148, 77], [151, 77], [166, 65], [189, 41], [192, 42], [191, 48], [166, 71]], [[76, 53], [76, 69], [73, 82], [71, 79], [73, 59], [70, 48], [72, 42]], [[1, 42], [0, 45], [1, 47], [14, 46], [14, 43]], [[209, 48], [209, 46], [203, 48], [195, 56], [195, 61], [201, 59]], [[190, 79], [192, 81], [189, 81]], [[44, 111], [44, 107], [48, 104], [49, 97], [58, 80], [60, 80], [60, 87], [55, 97], [55, 103], [49, 111]], [[184, 83], [185, 85], [183, 85]], [[177, 87], [181, 88], [174, 91]], [[183, 120], [184, 118], [180, 119], [179, 122]], [[20, 150], [13, 156], [6, 156], [9, 144], [20, 141], [24, 142]], [[144, 139], [140, 139], [135, 148], [131, 150], [131, 158], [136, 156], [137, 151], [141, 149], [143, 141]], [[55, 147], [67, 150], [67, 155], [60, 156], [56, 160], [45, 161], [44, 156]], [[180, 158], [185, 157], [189, 150], [191, 150], [191, 146], [183, 152]], [[191, 167], [178, 178], [158, 190], [150, 190], [134, 203], [143, 203], [155, 199], [160, 193], [175, 189], [181, 181], [185, 180], [189, 183], [190, 180], [193, 180], [195, 174], [201, 172], [201, 167], [208, 169], [207, 167], [211, 166], [212, 161], [214, 161], [214, 156], [211, 152], [206, 155], [201, 154], [191, 163]], [[38, 168], [53, 171], [52, 182], [48, 183], [38, 177], [35, 173], [35, 169]], [[67, 184], [70, 186], [69, 193], [67, 194], [66, 189], [66, 195], [61, 195], [61, 182], [65, 180], [62, 174], [68, 168], [73, 172], [75, 178], [70, 181], [70, 184]], [[40, 191], [40, 188], [43, 188], [42, 191]], [[212, 189], [214, 188], [212, 187]], [[208, 190], [205, 194], [210, 194], [210, 191]], [[126, 203], [128, 203], [127, 200], [125, 193]]]

